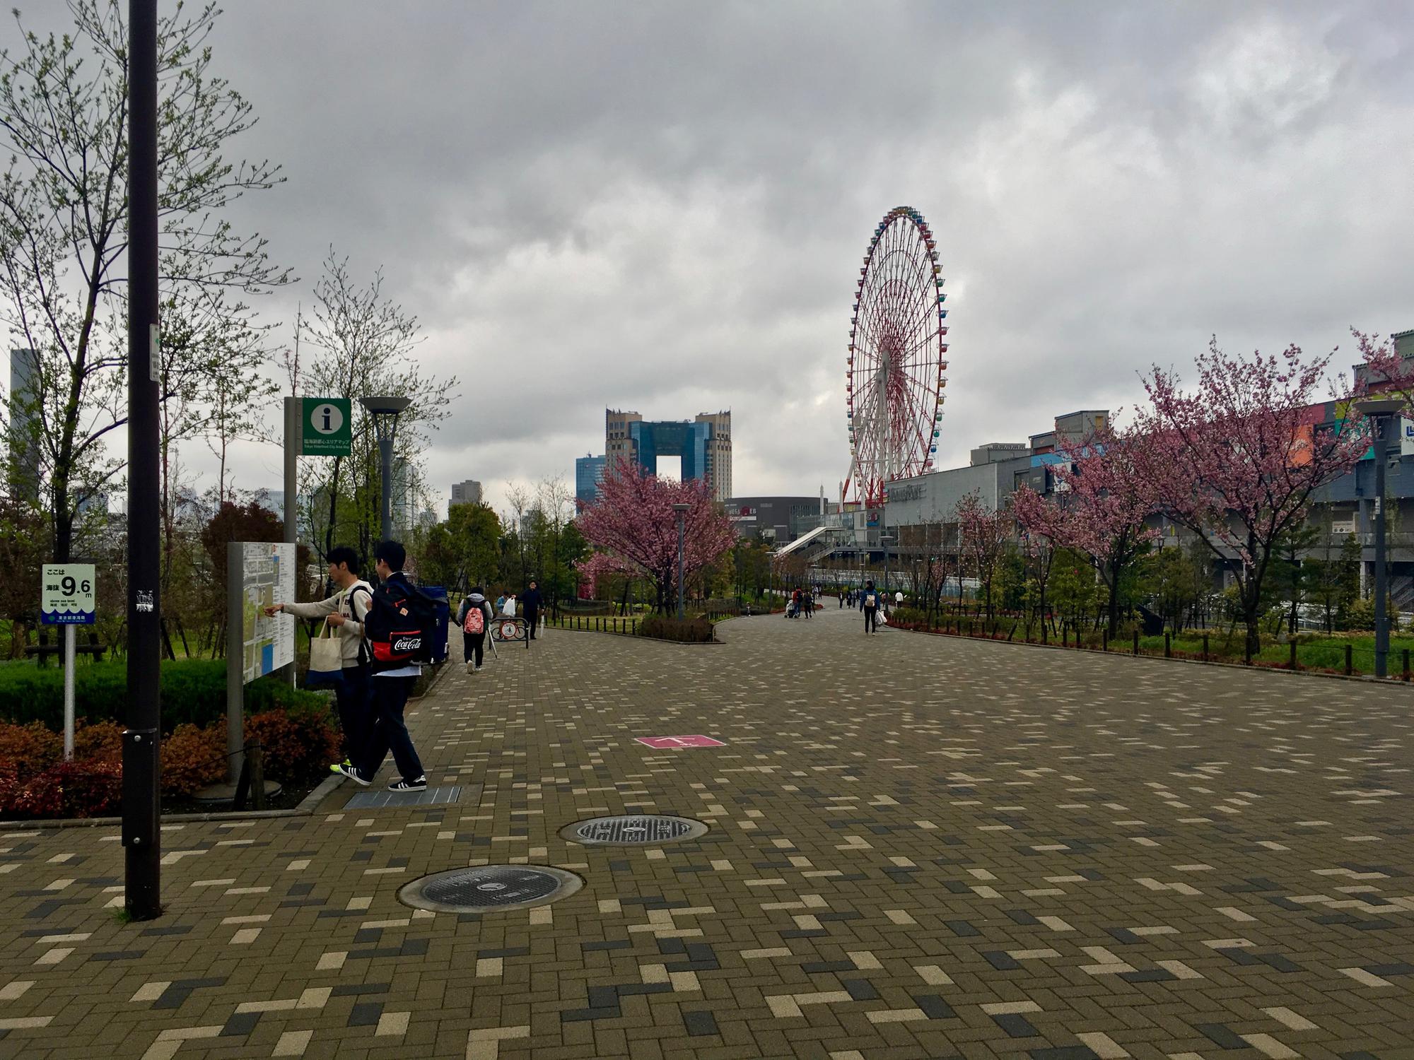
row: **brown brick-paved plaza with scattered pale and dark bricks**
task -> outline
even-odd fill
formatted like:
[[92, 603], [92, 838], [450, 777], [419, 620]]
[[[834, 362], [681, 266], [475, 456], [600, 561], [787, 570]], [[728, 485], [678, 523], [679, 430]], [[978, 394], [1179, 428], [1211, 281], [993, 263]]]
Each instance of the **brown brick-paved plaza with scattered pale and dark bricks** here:
[[[721, 632], [447, 674], [414, 735], [460, 801], [171, 827], [151, 924], [116, 830], [6, 832], [0, 1056], [1414, 1057], [1414, 691]], [[633, 742], [679, 734], [725, 746]], [[557, 837], [642, 810], [711, 830]], [[397, 902], [486, 861], [585, 886]]]

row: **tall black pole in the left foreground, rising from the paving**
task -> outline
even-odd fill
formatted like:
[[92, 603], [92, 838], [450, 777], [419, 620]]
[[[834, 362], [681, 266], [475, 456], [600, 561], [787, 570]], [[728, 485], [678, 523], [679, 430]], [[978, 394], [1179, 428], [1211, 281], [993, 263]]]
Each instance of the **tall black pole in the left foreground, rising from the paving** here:
[[161, 516], [158, 500], [157, 0], [127, 3], [127, 731], [123, 907], [161, 907]]

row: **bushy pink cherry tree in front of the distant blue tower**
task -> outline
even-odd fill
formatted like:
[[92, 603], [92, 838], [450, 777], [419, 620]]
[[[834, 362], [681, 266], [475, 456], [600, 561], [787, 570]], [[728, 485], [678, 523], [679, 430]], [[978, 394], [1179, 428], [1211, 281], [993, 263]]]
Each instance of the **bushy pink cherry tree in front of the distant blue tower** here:
[[663, 611], [677, 587], [673, 505], [691, 505], [683, 513], [684, 578], [731, 548], [735, 541], [731, 522], [718, 510], [703, 479], [672, 482], [645, 475], [636, 462], [619, 459], [604, 476], [598, 499], [580, 509], [580, 533], [597, 550], [578, 565], [580, 572], [643, 575], [653, 582], [656, 606]]

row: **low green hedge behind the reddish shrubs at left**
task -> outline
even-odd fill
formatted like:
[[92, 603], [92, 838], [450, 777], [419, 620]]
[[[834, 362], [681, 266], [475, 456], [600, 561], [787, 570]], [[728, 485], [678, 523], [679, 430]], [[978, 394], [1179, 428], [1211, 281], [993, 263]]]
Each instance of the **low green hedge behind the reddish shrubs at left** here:
[[[127, 663], [90, 663], [75, 670], [74, 712], [79, 718], [127, 721]], [[246, 712], [322, 708], [327, 697], [262, 677], [246, 685]], [[223, 659], [178, 659], [163, 663], [163, 732], [178, 725], [211, 725], [226, 712]], [[0, 666], [0, 721], [44, 722], [64, 728], [64, 670], [31, 664]]]

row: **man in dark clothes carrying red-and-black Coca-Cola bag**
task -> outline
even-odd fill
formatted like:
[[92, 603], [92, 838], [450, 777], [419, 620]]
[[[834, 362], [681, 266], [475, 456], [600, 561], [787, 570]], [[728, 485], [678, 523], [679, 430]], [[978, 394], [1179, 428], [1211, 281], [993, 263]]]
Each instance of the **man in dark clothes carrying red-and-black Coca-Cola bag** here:
[[397, 541], [379, 541], [373, 550], [378, 560], [379, 587], [373, 592], [373, 606], [369, 609], [365, 632], [372, 653], [373, 726], [368, 746], [354, 765], [334, 766], [335, 773], [368, 786], [383, 766], [387, 752], [402, 775], [389, 789], [393, 791], [423, 791], [427, 789], [427, 775], [421, 759], [407, 732], [403, 711], [407, 697], [421, 676], [421, 661], [430, 660], [434, 605], [430, 596], [419, 591], [403, 574], [407, 551]]

